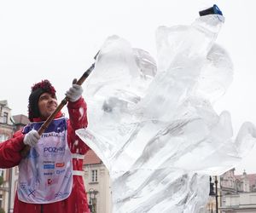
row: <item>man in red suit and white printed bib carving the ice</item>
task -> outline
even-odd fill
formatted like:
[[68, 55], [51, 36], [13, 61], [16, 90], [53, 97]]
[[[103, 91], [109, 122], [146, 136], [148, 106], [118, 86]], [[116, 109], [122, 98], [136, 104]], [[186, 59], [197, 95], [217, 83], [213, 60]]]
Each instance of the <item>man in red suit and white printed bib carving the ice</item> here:
[[[38, 129], [57, 107], [55, 88], [48, 80], [32, 86], [30, 124], [0, 144], [0, 168], [19, 165], [15, 213], [90, 213], [83, 181], [83, 158], [89, 150], [75, 130], [87, 127], [83, 89], [67, 91], [69, 119], [59, 112], [42, 135]], [[20, 151], [31, 147], [26, 158]]]

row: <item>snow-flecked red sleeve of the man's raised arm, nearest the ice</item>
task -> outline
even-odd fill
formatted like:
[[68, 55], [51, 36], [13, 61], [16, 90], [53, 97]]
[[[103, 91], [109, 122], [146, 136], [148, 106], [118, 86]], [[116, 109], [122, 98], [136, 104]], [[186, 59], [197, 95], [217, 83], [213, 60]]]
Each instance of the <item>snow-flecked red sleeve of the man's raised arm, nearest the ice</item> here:
[[85, 154], [90, 148], [75, 135], [75, 130], [87, 127], [87, 106], [84, 98], [75, 102], [68, 102], [67, 109], [69, 120], [67, 120], [67, 142], [71, 153]]

